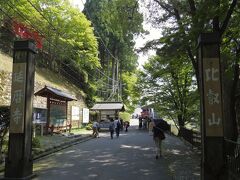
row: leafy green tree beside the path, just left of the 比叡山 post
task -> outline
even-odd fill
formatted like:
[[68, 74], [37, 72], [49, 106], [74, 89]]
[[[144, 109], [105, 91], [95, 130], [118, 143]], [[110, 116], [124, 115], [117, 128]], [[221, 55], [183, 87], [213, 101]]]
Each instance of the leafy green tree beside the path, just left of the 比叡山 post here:
[[197, 84], [184, 56], [154, 56], [144, 65], [140, 77], [143, 104], [154, 104], [157, 112], [172, 119], [177, 127], [188, 123], [198, 126]]

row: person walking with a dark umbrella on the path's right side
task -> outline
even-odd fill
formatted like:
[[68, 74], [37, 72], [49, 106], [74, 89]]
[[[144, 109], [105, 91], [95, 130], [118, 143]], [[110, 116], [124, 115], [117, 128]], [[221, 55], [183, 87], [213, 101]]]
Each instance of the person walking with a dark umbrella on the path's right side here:
[[156, 159], [162, 156], [162, 140], [165, 139], [164, 132], [160, 128], [160, 124], [153, 125], [153, 140], [156, 145]]

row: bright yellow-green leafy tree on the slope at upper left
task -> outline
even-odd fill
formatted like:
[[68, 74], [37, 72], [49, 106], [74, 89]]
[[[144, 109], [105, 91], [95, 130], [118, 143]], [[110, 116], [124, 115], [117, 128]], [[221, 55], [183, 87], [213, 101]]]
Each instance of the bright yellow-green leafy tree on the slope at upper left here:
[[38, 65], [46, 66], [44, 58], [47, 58], [47, 66], [51, 69], [66, 71], [67, 75], [72, 73], [68, 77], [70, 80], [80, 77], [76, 81], [80, 81], [87, 93], [86, 100], [91, 103], [95, 82], [88, 75], [101, 65], [98, 42], [85, 15], [68, 0], [9, 0], [0, 1], [0, 5], [9, 27], [17, 21], [43, 37], [43, 49], [39, 50], [43, 55]]

